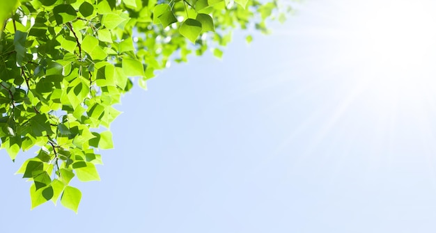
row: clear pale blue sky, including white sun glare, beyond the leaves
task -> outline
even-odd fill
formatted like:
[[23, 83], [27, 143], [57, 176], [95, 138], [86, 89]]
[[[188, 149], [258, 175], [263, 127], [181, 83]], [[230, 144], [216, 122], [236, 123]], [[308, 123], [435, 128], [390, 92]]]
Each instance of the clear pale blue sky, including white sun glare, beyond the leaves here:
[[295, 6], [125, 95], [77, 215], [1, 151], [0, 232], [435, 232], [435, 3]]

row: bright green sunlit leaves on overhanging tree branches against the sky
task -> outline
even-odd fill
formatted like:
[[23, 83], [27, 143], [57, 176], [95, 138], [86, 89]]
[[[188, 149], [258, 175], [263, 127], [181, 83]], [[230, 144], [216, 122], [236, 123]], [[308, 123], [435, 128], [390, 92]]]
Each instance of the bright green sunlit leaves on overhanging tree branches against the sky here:
[[[8, 0], [0, 3], [0, 138], [17, 171], [32, 181], [31, 208], [60, 198], [77, 212], [81, 191], [100, 180], [99, 149], [113, 147], [114, 104], [133, 78], [146, 88], [170, 60], [208, 48], [215, 56], [233, 29], [267, 33], [285, 19], [279, 0]], [[251, 35], [247, 36], [251, 41]]]

